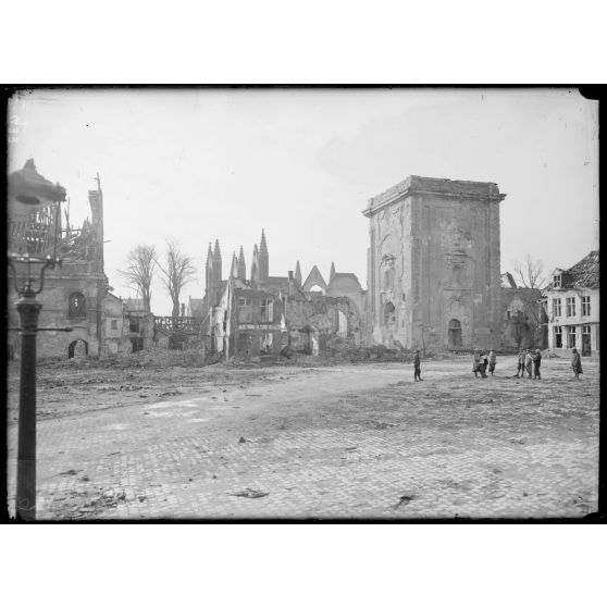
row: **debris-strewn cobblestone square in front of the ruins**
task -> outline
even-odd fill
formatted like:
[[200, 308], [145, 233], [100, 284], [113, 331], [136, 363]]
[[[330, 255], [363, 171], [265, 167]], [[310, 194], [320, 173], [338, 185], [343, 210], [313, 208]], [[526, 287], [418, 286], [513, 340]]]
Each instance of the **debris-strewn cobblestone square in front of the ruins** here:
[[[411, 366], [399, 363], [182, 369], [187, 386], [157, 394], [145, 380], [119, 389], [124, 377], [115, 372], [113, 392], [85, 384], [63, 396], [47, 381], [61, 373], [42, 371], [37, 518], [542, 518], [595, 511], [598, 362], [584, 360], [581, 382], [565, 359], [546, 359], [542, 381], [512, 377], [513, 358], [501, 358], [486, 382], [470, 368], [468, 359], [424, 362], [422, 383], [413, 383]], [[165, 385], [178, 384], [173, 371], [156, 374], [160, 384], [163, 377]]]

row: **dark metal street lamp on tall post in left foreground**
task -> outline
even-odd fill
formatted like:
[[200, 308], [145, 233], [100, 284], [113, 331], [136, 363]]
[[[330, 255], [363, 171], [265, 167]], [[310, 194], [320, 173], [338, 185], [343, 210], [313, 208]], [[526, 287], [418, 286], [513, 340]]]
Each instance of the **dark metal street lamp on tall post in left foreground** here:
[[57, 241], [65, 189], [39, 175], [32, 159], [9, 175], [8, 185], [9, 265], [21, 318], [16, 518], [29, 521], [36, 518], [36, 333], [49, 331], [38, 329], [42, 305], [36, 295], [42, 292], [45, 272], [61, 265]]

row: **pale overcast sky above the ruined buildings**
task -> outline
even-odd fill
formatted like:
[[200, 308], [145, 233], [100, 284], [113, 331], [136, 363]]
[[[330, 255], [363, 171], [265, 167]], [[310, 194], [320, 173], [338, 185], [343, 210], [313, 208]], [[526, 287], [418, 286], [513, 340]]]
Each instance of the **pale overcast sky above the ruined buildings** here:
[[[566, 89], [34, 90], [9, 108], [9, 171], [34, 158], [77, 223], [99, 173], [106, 273], [177, 240], [202, 297], [209, 241], [224, 277], [265, 228], [270, 274], [331, 262], [367, 285], [368, 199], [408, 175], [498, 184], [501, 270], [528, 253], [568, 268], [598, 248], [598, 106]], [[170, 314], [157, 281], [152, 311]]]

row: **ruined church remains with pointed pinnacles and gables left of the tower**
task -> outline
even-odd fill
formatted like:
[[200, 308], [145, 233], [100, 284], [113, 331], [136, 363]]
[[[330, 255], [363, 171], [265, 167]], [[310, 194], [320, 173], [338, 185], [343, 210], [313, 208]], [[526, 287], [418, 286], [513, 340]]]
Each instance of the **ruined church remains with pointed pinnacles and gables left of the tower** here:
[[253, 247], [249, 277], [243, 247], [222, 277], [219, 241], [209, 245], [201, 309], [208, 344], [225, 358], [276, 357], [286, 349], [318, 356], [361, 343], [366, 293], [356, 275], [337, 273], [329, 282], [314, 265], [306, 281], [299, 262], [287, 276], [270, 275], [265, 233]]

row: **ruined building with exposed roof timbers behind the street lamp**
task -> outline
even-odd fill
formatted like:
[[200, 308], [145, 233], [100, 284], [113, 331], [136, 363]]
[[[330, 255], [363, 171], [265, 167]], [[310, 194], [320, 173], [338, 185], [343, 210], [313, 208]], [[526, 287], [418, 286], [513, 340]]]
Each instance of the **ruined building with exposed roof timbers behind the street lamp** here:
[[[22, 171], [35, 174], [34, 161], [28, 160]], [[90, 219], [75, 227], [66, 209], [58, 214], [50, 206], [32, 210], [9, 194], [10, 250], [38, 258], [57, 255], [62, 261], [61, 267], [46, 272], [44, 290], [37, 296], [42, 304], [39, 326], [47, 330], [38, 333], [39, 358], [104, 357], [135, 351], [144, 347], [146, 335], [149, 336], [145, 322], [133, 322], [133, 315], [139, 312], [111, 293], [104, 273], [103, 193], [99, 176], [96, 189], [88, 193], [88, 203]], [[20, 275], [24, 271], [24, 264], [21, 265]], [[17, 294], [10, 289], [10, 327], [20, 325], [17, 299]], [[55, 332], [53, 327], [72, 331]], [[10, 331], [9, 352], [13, 356], [18, 355], [18, 332]]]

